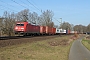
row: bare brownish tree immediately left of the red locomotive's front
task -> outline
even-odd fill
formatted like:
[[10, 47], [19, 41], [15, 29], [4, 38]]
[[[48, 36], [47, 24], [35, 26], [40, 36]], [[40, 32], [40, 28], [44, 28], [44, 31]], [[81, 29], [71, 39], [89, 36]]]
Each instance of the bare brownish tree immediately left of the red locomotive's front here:
[[13, 34], [13, 29], [15, 25], [14, 13], [8, 13], [7, 11], [4, 12], [4, 20], [3, 20], [3, 33], [11, 36]]

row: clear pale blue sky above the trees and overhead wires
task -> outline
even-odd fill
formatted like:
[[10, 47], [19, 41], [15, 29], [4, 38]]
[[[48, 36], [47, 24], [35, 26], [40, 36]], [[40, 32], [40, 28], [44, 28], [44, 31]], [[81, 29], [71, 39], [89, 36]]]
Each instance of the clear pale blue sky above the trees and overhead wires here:
[[[15, 3], [15, 2], [19, 3]], [[31, 3], [29, 3], [29, 2]], [[0, 0], [0, 16], [4, 11], [20, 12], [29, 9], [31, 12], [41, 14], [40, 10], [52, 10], [54, 18], [60, 21], [69, 22], [70, 24], [82, 24], [87, 26], [90, 24], [90, 0]], [[33, 5], [36, 7], [34, 7]], [[22, 6], [21, 6], [22, 5]], [[23, 7], [24, 6], [24, 7]], [[56, 25], [57, 20], [53, 19]]]

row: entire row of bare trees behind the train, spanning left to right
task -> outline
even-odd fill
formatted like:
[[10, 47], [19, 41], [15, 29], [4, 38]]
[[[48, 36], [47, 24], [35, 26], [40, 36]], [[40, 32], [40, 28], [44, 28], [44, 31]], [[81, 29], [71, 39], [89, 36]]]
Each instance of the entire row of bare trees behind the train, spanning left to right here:
[[83, 25], [73, 25], [68, 22], [63, 22], [60, 26], [54, 25], [52, 18], [54, 13], [51, 10], [41, 11], [41, 14], [38, 15], [36, 12], [30, 12], [29, 9], [22, 10], [18, 13], [9, 13], [4, 12], [3, 16], [0, 17], [0, 36], [2, 35], [14, 35], [14, 26], [17, 21], [27, 21], [31, 24], [56, 27], [62, 29], [75, 30], [79, 33], [89, 32], [90, 24], [88, 26]]

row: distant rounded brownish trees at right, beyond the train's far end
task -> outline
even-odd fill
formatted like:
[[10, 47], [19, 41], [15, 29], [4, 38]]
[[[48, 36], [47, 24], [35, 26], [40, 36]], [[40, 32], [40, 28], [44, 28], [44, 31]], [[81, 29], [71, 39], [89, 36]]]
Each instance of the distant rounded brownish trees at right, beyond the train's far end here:
[[69, 24], [68, 22], [63, 22], [60, 25], [60, 28], [72, 30], [72, 31], [77, 31], [78, 33], [90, 33], [90, 24], [88, 26], [84, 26], [81, 24], [74, 26], [73, 24]]

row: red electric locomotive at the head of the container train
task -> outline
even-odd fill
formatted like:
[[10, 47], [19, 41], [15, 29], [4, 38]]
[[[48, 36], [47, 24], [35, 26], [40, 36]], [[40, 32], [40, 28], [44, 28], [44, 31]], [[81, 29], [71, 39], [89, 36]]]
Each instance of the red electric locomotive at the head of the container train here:
[[28, 22], [17, 22], [14, 30], [15, 34], [35, 35], [40, 33], [40, 26], [32, 25]]

